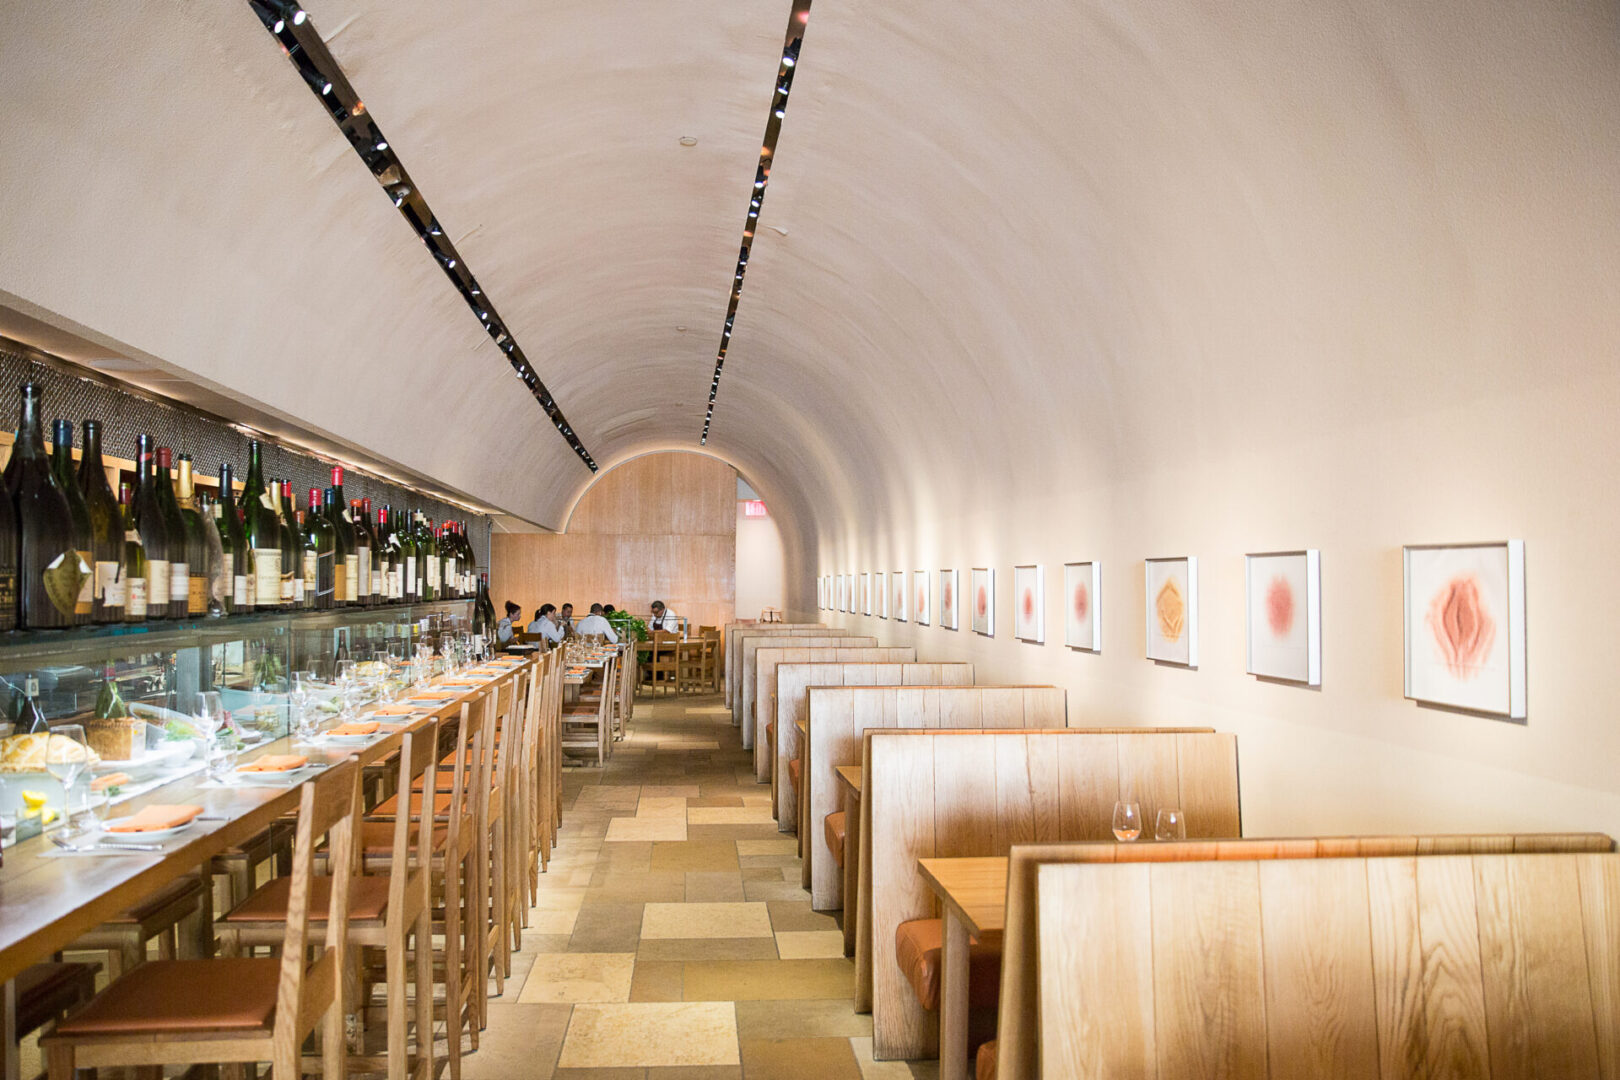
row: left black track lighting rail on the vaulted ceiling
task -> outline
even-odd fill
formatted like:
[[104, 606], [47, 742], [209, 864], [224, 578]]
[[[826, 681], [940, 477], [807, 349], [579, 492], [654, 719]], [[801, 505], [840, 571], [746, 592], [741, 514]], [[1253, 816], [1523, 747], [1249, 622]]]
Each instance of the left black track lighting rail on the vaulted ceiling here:
[[569, 418], [562, 415], [556, 398], [551, 397], [551, 390], [546, 389], [539, 374], [528, 363], [528, 358], [523, 356], [523, 348], [501, 319], [494, 301], [484, 295], [478, 285], [478, 279], [473, 277], [467, 262], [455, 251], [455, 244], [444, 235], [439, 219], [434, 217], [428, 207], [428, 199], [421, 194], [421, 188], [405, 172], [399, 154], [394, 152], [394, 147], [382, 136], [382, 130], [366, 110], [364, 100], [348, 83], [343, 70], [327, 50], [309, 15], [292, 0], [248, 0], [248, 6], [264, 23], [264, 29], [282, 47], [282, 52], [292, 60], [303, 81], [309, 84], [309, 92], [314, 94], [327, 115], [332, 117], [339, 131], [355, 147], [355, 154], [360, 155], [360, 160], [376, 176], [382, 191], [394, 201], [394, 206], [410, 227], [416, 230], [416, 235], [421, 236], [423, 244], [426, 244], [434, 261], [437, 261], [444, 275], [462, 293], [462, 300], [467, 301], [467, 306], [483, 324], [484, 332], [494, 340], [496, 348], [505, 353], [512, 371], [523, 381], [528, 392], [535, 395], [539, 406], [546, 410], [546, 416], [557, 427], [557, 434], [567, 440], [580, 460], [595, 473], [595, 458], [591, 458], [585, 444], [580, 442], [578, 434], [569, 424]]

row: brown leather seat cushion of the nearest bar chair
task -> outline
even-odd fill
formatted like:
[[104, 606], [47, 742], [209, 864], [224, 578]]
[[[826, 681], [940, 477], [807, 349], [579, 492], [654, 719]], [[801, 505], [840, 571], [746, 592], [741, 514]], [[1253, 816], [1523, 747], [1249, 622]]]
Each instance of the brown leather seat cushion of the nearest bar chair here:
[[266, 1031], [279, 959], [149, 960], [57, 1025], [58, 1038], [164, 1031]]

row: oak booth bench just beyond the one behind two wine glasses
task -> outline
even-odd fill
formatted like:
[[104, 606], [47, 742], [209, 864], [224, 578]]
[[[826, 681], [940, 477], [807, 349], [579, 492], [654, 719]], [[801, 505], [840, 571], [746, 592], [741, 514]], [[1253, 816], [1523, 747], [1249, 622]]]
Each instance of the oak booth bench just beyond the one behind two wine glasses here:
[[[862, 763], [868, 729], [1025, 730], [1063, 727], [1068, 719], [1068, 695], [1061, 687], [813, 687], [807, 693], [810, 737], [800, 743], [804, 790], [795, 810], [802, 881], [810, 889], [810, 907], [818, 912], [844, 907], [844, 873], [825, 823], [842, 805], [838, 766]], [[844, 829], [859, 824], [846, 818]]]

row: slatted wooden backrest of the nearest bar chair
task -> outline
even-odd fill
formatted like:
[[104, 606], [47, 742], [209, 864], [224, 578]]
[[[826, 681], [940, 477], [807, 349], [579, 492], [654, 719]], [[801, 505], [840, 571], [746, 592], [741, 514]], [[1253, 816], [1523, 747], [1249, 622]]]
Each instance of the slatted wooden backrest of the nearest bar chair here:
[[[410, 789], [407, 789], [407, 797]], [[275, 993], [277, 1075], [296, 1077], [298, 1048], [305, 1033], [337, 1001], [348, 941], [348, 882], [355, 860], [355, 818], [360, 808], [360, 761], [348, 758], [330, 766], [298, 792], [298, 827], [293, 832], [292, 889], [287, 902], [287, 931], [282, 934], [282, 975]], [[314, 850], [326, 839], [330, 852], [332, 900], [326, 941], [311, 963], [309, 894], [314, 878]], [[280, 1061], [290, 1051], [288, 1061]]]

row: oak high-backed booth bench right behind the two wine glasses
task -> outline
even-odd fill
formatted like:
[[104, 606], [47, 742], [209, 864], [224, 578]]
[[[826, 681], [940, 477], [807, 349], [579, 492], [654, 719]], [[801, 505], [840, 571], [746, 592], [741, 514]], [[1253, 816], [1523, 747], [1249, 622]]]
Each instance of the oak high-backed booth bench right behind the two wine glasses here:
[[1140, 803], [1145, 823], [1179, 806], [1191, 836], [1243, 834], [1230, 733], [868, 729], [862, 764], [855, 1007], [872, 1009], [878, 1059], [938, 1052], [938, 1015], [896, 959], [901, 923], [935, 918], [919, 858], [1103, 839], [1118, 798]]

